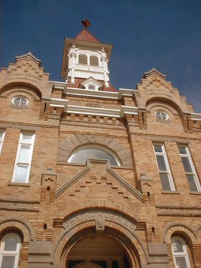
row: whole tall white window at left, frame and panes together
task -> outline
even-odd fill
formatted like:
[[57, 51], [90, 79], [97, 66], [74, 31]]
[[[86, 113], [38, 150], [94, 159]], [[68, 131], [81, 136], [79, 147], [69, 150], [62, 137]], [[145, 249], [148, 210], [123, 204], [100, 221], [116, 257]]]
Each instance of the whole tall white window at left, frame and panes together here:
[[29, 181], [29, 172], [32, 162], [35, 134], [21, 132], [19, 146], [16, 153], [12, 182]]

